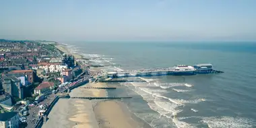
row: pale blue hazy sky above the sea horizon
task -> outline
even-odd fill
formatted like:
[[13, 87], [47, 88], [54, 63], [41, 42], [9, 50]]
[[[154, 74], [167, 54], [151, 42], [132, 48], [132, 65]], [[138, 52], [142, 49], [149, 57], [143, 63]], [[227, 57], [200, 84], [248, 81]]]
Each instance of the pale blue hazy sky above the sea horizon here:
[[256, 40], [256, 0], [2, 0], [0, 38]]

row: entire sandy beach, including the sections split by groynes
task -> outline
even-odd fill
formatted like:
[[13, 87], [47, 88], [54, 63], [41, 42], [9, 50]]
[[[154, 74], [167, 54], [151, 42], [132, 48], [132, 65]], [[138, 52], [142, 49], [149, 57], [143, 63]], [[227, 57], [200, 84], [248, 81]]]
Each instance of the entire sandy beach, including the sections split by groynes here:
[[[64, 44], [57, 43], [57, 49], [75, 58], [82, 55], [67, 50]], [[95, 68], [100, 69], [100, 68]], [[87, 83], [80, 87], [107, 87], [105, 83]], [[106, 90], [74, 88], [70, 96], [107, 96]], [[115, 113], [115, 115], [113, 115]], [[118, 115], [118, 116], [116, 116]], [[49, 121], [42, 127], [150, 127], [148, 123], [139, 121], [121, 100], [82, 100], [60, 99], [49, 113]]]

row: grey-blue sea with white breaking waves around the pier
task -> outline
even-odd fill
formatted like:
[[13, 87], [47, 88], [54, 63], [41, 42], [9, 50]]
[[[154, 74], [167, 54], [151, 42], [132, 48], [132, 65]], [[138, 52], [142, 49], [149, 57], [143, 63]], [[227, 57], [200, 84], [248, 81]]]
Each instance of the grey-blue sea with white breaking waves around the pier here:
[[[64, 42], [70, 51], [134, 70], [211, 63], [224, 71], [207, 75], [142, 77], [147, 82], [110, 83], [151, 127], [256, 127], [256, 42]], [[128, 77], [122, 79], [141, 79]]]

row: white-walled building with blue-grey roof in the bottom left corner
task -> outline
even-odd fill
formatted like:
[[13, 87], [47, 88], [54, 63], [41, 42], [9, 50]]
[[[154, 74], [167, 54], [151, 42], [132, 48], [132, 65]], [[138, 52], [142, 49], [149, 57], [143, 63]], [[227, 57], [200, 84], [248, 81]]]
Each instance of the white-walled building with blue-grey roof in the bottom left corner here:
[[0, 128], [18, 128], [20, 116], [17, 112], [0, 113]]

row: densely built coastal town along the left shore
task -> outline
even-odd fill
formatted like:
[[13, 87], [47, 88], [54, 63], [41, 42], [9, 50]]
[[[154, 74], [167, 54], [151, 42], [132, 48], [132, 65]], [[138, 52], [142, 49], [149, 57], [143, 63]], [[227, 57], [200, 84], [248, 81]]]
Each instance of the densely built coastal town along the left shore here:
[[56, 42], [0, 40], [0, 121], [3, 127], [38, 127], [50, 106], [95, 75], [57, 49]]

